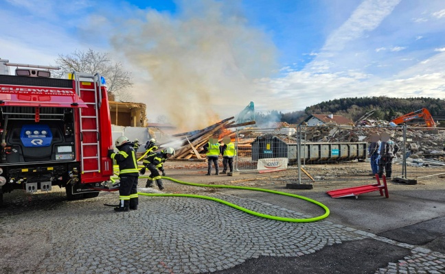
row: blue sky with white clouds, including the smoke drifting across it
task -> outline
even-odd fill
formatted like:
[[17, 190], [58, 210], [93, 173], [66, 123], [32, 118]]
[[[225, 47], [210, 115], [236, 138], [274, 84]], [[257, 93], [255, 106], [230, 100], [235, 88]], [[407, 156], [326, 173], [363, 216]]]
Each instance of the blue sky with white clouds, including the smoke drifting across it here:
[[[0, 58], [108, 51], [148, 119], [292, 112], [342, 97], [445, 98], [442, 0], [0, 0]], [[427, 106], [426, 106], [427, 107]], [[196, 124], [197, 126], [197, 124]]]

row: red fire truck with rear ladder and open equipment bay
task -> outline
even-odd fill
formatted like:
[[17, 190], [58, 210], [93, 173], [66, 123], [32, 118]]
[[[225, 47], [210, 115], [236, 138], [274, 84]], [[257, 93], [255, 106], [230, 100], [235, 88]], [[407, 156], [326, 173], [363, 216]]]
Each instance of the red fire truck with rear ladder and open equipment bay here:
[[104, 79], [77, 72], [56, 79], [51, 69], [58, 68], [0, 60], [0, 206], [16, 189], [59, 186], [67, 199], [98, 197], [113, 175]]

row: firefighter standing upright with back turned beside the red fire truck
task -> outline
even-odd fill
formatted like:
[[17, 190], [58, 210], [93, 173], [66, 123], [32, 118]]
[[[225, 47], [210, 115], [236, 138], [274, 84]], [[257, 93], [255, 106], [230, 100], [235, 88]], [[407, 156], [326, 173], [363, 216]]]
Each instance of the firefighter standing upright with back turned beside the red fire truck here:
[[137, 210], [139, 198], [137, 196], [137, 179], [139, 170], [137, 169], [136, 152], [133, 144], [125, 136], [120, 136], [116, 140], [116, 148], [109, 150], [108, 156], [119, 165], [119, 206], [115, 208], [117, 212]]

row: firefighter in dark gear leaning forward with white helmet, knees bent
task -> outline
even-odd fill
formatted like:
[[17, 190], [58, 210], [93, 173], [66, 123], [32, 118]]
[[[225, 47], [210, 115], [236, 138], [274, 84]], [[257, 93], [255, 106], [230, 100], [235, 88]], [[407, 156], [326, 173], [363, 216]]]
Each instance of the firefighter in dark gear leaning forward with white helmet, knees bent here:
[[159, 171], [162, 172], [162, 176], [166, 175], [166, 171], [163, 169], [163, 163], [166, 162], [168, 158], [174, 155], [174, 149], [172, 147], [168, 147], [161, 152], [158, 153], [150, 153], [143, 163], [144, 167], [139, 171], [139, 174], [144, 175], [146, 169], [150, 171], [150, 176], [148, 176], [146, 188], [152, 188], [153, 182], [156, 181], [156, 184], [159, 190], [163, 190], [162, 177], [159, 175]]

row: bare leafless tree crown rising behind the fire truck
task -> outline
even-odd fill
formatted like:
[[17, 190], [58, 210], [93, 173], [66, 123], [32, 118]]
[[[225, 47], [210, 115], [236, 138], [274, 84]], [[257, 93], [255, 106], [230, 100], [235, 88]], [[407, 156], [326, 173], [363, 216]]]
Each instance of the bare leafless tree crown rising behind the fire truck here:
[[69, 55], [59, 54], [56, 64], [60, 66], [60, 73], [54, 73], [61, 77], [64, 72], [78, 71], [80, 73], [100, 73], [105, 80], [110, 94], [118, 97], [120, 101], [131, 101], [132, 96], [126, 90], [133, 86], [131, 73], [124, 71], [120, 62], [114, 62], [109, 58], [109, 53], [101, 53], [89, 49], [88, 51], [76, 50]]

